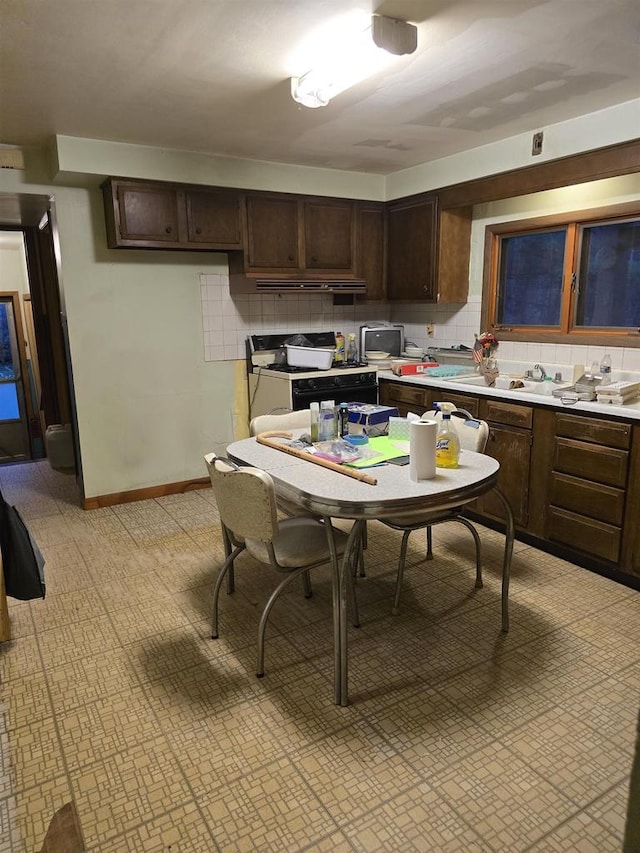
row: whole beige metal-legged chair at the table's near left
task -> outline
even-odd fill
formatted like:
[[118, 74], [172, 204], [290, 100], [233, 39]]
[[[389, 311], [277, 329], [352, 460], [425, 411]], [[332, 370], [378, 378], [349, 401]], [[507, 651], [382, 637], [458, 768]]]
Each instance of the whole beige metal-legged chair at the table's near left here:
[[[218, 599], [225, 577], [233, 572], [237, 557], [247, 551], [255, 560], [271, 566], [285, 577], [276, 586], [262, 611], [258, 625], [256, 674], [264, 675], [264, 638], [269, 614], [280, 593], [303, 576], [305, 592], [311, 595], [308, 572], [331, 563], [334, 596], [337, 595], [338, 558], [347, 544], [347, 534], [329, 523], [309, 516], [278, 521], [275, 489], [270, 474], [258, 468], [241, 468], [229, 459], [209, 453], [205, 462], [211, 478], [225, 542], [225, 560], [220, 567], [213, 592], [211, 638], [218, 638]], [[353, 572], [351, 605], [353, 624], [359, 625]], [[233, 582], [227, 592], [233, 592]], [[334, 602], [335, 606], [335, 602]], [[334, 638], [335, 639], [335, 638]]]

